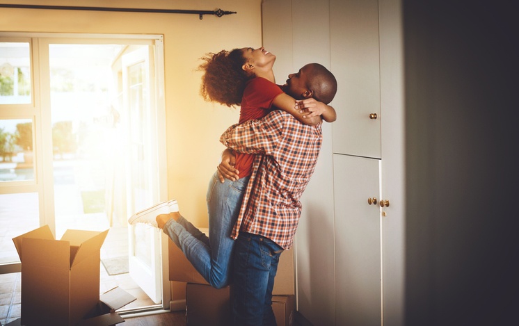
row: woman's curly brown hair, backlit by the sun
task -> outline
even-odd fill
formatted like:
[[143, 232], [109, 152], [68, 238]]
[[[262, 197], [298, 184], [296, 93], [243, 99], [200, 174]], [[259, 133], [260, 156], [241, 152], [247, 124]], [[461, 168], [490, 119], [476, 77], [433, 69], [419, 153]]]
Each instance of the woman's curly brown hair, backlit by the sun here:
[[198, 66], [199, 70], [204, 71], [200, 95], [205, 101], [229, 107], [239, 106], [246, 82], [254, 77], [241, 69], [246, 63], [241, 49], [209, 53], [200, 59], [204, 61]]

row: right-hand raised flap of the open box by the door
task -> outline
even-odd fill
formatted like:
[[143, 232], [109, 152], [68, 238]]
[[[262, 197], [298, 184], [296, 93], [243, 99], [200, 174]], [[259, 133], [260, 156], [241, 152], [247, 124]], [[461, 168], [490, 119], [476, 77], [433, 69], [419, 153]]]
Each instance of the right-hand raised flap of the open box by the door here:
[[88, 258], [93, 252], [98, 252], [108, 231], [65, 231], [61, 240], [70, 242], [70, 268]]

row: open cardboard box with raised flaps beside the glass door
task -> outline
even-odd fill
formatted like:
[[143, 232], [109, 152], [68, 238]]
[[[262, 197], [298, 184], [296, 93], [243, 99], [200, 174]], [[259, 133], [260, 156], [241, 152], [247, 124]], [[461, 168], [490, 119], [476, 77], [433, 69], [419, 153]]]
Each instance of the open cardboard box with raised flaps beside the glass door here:
[[106, 231], [48, 225], [13, 238], [22, 261], [22, 325], [77, 325], [99, 302], [99, 249]]

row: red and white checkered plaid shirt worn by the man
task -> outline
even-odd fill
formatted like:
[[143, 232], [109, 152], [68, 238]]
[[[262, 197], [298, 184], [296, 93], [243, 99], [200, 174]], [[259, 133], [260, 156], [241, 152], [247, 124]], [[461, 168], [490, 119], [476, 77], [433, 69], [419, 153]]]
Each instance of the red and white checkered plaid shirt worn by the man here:
[[262, 120], [234, 124], [223, 133], [223, 145], [262, 154], [255, 156], [232, 238], [246, 231], [285, 249], [292, 247], [301, 217], [299, 199], [314, 173], [322, 138], [321, 124], [301, 124], [280, 110]]

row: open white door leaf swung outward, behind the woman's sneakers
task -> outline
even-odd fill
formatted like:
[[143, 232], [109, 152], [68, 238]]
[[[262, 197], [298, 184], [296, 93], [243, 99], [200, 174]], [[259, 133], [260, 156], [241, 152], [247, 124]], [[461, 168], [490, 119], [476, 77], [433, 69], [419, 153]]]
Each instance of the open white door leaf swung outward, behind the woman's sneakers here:
[[[123, 104], [127, 114], [127, 206], [129, 215], [159, 202], [157, 110], [154, 105], [154, 63], [149, 47], [122, 57]], [[130, 225], [129, 272], [150, 299], [159, 304], [161, 232], [147, 225]]]

